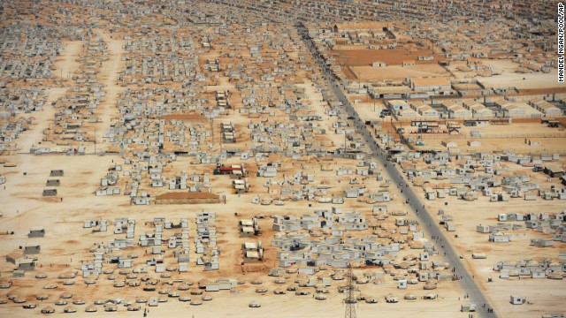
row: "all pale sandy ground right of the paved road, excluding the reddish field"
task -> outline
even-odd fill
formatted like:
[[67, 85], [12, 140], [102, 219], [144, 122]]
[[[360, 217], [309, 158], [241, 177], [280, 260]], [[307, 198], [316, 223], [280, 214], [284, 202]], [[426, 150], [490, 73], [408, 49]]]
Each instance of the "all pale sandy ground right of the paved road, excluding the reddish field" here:
[[[350, 95], [353, 101], [359, 98], [358, 95]], [[353, 104], [363, 119], [376, 120], [379, 110], [383, 108], [380, 102], [377, 102], [377, 111], [373, 111], [372, 104], [369, 102]], [[397, 123], [396, 125], [400, 125]], [[402, 124], [407, 129], [411, 129], [409, 124]], [[470, 130], [477, 129], [483, 135], [501, 135], [505, 133], [510, 136], [513, 134], [558, 134], [563, 133], [556, 128], [549, 128], [547, 125], [539, 123], [515, 123], [513, 125], [505, 125], [502, 129], [501, 125], [487, 125], [479, 127], [463, 127], [461, 135], [470, 136]], [[439, 136], [434, 136], [439, 137]], [[446, 149], [440, 146], [440, 137], [435, 140], [427, 140], [424, 134], [426, 148], [439, 146], [439, 149]], [[449, 140], [448, 138], [445, 140]], [[466, 147], [465, 140], [455, 139], [459, 144], [459, 148], [463, 151], [477, 152], [479, 150], [516, 150], [523, 153], [524, 151], [532, 151], [524, 144], [524, 138], [507, 138], [507, 139], [481, 139], [482, 146], [480, 148]], [[470, 139], [471, 140], [471, 139]], [[564, 138], [546, 138], [543, 140], [543, 146], [539, 147], [540, 152], [556, 151], [564, 152]], [[539, 153], [538, 151], [532, 151]], [[561, 161], [563, 163], [563, 159]], [[532, 177], [532, 182], [539, 183], [541, 189], [549, 189], [551, 185], [560, 186], [557, 178], [553, 178], [550, 182], [547, 176], [541, 172], [534, 173], [532, 168], [520, 167], [513, 163], [504, 163], [509, 168], [509, 174], [514, 172], [526, 173]], [[441, 182], [447, 182], [443, 180]], [[495, 192], [498, 192], [497, 189]], [[417, 193], [424, 192], [417, 189]], [[514, 239], [510, 243], [495, 244], [488, 242], [488, 234], [476, 232], [478, 224], [497, 224], [497, 215], [499, 213], [529, 213], [539, 211], [560, 213], [563, 210], [564, 202], [542, 201], [524, 201], [522, 198], [511, 199], [507, 202], [490, 202], [487, 197], [479, 195], [478, 201], [456, 200], [455, 197], [448, 196], [445, 199], [437, 199], [436, 201], [425, 201], [429, 211], [438, 211], [440, 208], [445, 210], [446, 215], [454, 217], [456, 231], [447, 235], [449, 243], [455, 246], [456, 250], [463, 255], [467, 269], [478, 280], [479, 286], [485, 291], [487, 297], [493, 301], [493, 306], [497, 314], [501, 317], [532, 317], [539, 316], [545, 312], [563, 312], [566, 307], [563, 306], [562, 299], [565, 295], [566, 284], [564, 281], [555, 281], [550, 279], [532, 279], [517, 277], [509, 279], [500, 279], [499, 273], [493, 271], [493, 265], [497, 261], [524, 261], [536, 257], [557, 259], [559, 253], [566, 251], [566, 244], [556, 242], [555, 246], [547, 248], [539, 248], [530, 246], [530, 239], [546, 238], [549, 235], [543, 235], [537, 231], [524, 230], [512, 231]], [[447, 205], [445, 205], [447, 202]], [[440, 221], [440, 216], [436, 216]], [[457, 235], [457, 238], [455, 238]], [[520, 251], [520, 252], [519, 252]], [[474, 260], [471, 258], [472, 252], [481, 252], [487, 254], [486, 260]], [[487, 283], [488, 278], [493, 278], [493, 283]], [[509, 303], [511, 294], [524, 295], [529, 304], [523, 306], [514, 306]]]

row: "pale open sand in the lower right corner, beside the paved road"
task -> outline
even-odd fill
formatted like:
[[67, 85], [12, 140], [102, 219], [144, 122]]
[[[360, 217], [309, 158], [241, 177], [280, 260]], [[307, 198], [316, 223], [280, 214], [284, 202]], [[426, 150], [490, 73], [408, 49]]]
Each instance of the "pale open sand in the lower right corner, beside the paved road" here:
[[[510, 170], [509, 173], [516, 171], [530, 173], [532, 181], [539, 183], [541, 188], [547, 189], [550, 185], [557, 185], [556, 178], [552, 182], [547, 182], [547, 178], [542, 173], [532, 173], [530, 168], [510, 163], [506, 166]], [[448, 205], [444, 202], [448, 202]], [[443, 208], [445, 214], [454, 217], [456, 231], [447, 238], [463, 255], [468, 269], [493, 300], [493, 306], [499, 314], [505, 313], [502, 316], [509, 317], [532, 317], [535, 313], [552, 311], [550, 308], [556, 311], [566, 309], [560, 300], [566, 296], [564, 281], [532, 279], [524, 276], [520, 280], [518, 277], [501, 279], [499, 272], [492, 270], [497, 261], [524, 261], [537, 257], [557, 259], [559, 253], [566, 251], [566, 244], [555, 242], [555, 246], [547, 248], [530, 246], [530, 239], [550, 237], [535, 230], [508, 231], [513, 234], [512, 241], [499, 244], [488, 242], [488, 234], [476, 232], [478, 224], [497, 224], [497, 216], [500, 213], [538, 213], [539, 211], [559, 213], [564, 207], [563, 201], [543, 201], [538, 198], [537, 201], [511, 199], [508, 202], [490, 202], [487, 197], [480, 195], [478, 201], [456, 200], [455, 197], [447, 196], [446, 199], [426, 201], [426, 205], [430, 211]], [[436, 217], [440, 220], [440, 216]], [[458, 236], [457, 239], [455, 235]], [[474, 260], [471, 258], [472, 252], [486, 253], [487, 259]], [[488, 278], [493, 278], [493, 283], [488, 283]], [[516, 293], [524, 295], [530, 304], [511, 305], [509, 295]]]

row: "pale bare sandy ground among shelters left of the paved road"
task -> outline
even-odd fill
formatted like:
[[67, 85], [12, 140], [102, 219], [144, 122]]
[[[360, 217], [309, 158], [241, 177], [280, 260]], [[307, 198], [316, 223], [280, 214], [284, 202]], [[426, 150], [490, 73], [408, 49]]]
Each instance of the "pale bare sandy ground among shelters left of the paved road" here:
[[[108, 125], [109, 120], [116, 114], [116, 99], [119, 96], [119, 87], [114, 85], [117, 70], [120, 69], [121, 49], [119, 41], [109, 39], [108, 34], [102, 33], [103, 40], [109, 43], [108, 52], [110, 59], [103, 63], [101, 69], [101, 76], [99, 80], [105, 85], [106, 96], [103, 104], [96, 110], [101, 111], [99, 116], [103, 118], [103, 125]], [[73, 46], [74, 47], [74, 46]], [[70, 72], [70, 71], [65, 71]], [[64, 72], [64, 73], [65, 73]], [[325, 115], [325, 106], [320, 103], [322, 95], [314, 90], [309, 81], [302, 84], [307, 89], [309, 96], [312, 113], [327, 117]], [[232, 92], [235, 88], [227, 83], [226, 80], [219, 80], [218, 87], [209, 87], [209, 92], [216, 89], [230, 89]], [[58, 97], [63, 95], [65, 90], [57, 89], [50, 91], [50, 101], [57, 100]], [[237, 101], [238, 96], [233, 95], [233, 106], [238, 110], [239, 104]], [[279, 115], [279, 110], [276, 113]], [[33, 125], [30, 130], [21, 135], [22, 145], [34, 144], [37, 140], [42, 138], [42, 130], [45, 128], [49, 118], [52, 118], [52, 110], [46, 108], [42, 110], [37, 117], [44, 118], [38, 125]], [[230, 116], [226, 119], [234, 122], [237, 128], [237, 136], [239, 136], [238, 143], [246, 145], [249, 142], [249, 117], [245, 114], [240, 114], [237, 111], [230, 110]], [[218, 118], [218, 121], [224, 118]], [[278, 118], [274, 117], [271, 120], [277, 122]], [[331, 119], [332, 120], [332, 119]], [[218, 123], [215, 121], [215, 123]], [[333, 133], [332, 121], [325, 120], [320, 122], [327, 129], [327, 134], [324, 136], [326, 142], [334, 142], [341, 144], [342, 136]], [[219, 134], [219, 125], [215, 125], [215, 133]], [[102, 133], [100, 134], [102, 135]], [[106, 145], [104, 140], [100, 140], [100, 148]], [[238, 144], [237, 144], [238, 145]], [[22, 146], [23, 147], [23, 146]], [[228, 147], [228, 146], [226, 146]], [[214, 299], [209, 303], [204, 303], [202, 307], [190, 307], [187, 303], [182, 303], [176, 299], [169, 299], [167, 304], [161, 304], [157, 308], [151, 308], [149, 316], [163, 316], [172, 314], [173, 316], [180, 314], [194, 314], [195, 316], [218, 316], [218, 317], [247, 317], [251, 314], [257, 314], [264, 317], [299, 317], [305, 313], [309, 316], [341, 316], [344, 311], [342, 299], [344, 295], [337, 292], [337, 287], [343, 282], [333, 282], [333, 286], [329, 288], [330, 293], [327, 294], [328, 299], [319, 301], [312, 298], [314, 290], [308, 289], [310, 292], [307, 296], [295, 296], [293, 292], [287, 295], [278, 296], [273, 295], [272, 291], [278, 287], [273, 281], [275, 278], [267, 276], [268, 269], [277, 266], [276, 253], [277, 249], [270, 247], [273, 235], [272, 219], [266, 217], [260, 220], [263, 234], [258, 238], [241, 238], [238, 232], [237, 223], [241, 218], [249, 218], [251, 216], [272, 216], [272, 215], [294, 215], [302, 216], [303, 214], [311, 214], [317, 208], [330, 208], [329, 204], [312, 203], [309, 207], [308, 202], [286, 201], [284, 206], [262, 206], [253, 205], [251, 200], [256, 195], [261, 198], [277, 198], [277, 193], [268, 193], [268, 189], [264, 187], [266, 178], [250, 178], [251, 192], [243, 195], [233, 194], [231, 191], [231, 179], [228, 176], [218, 176], [211, 178], [211, 186], [214, 192], [226, 195], [227, 204], [215, 205], [191, 205], [191, 206], [133, 206], [129, 203], [129, 198], [123, 195], [112, 197], [96, 197], [93, 193], [96, 187], [100, 184], [100, 179], [106, 174], [108, 167], [112, 163], [119, 163], [118, 156], [114, 155], [84, 155], [84, 156], [64, 156], [64, 155], [17, 155], [10, 158], [11, 161], [17, 163], [17, 167], [0, 168], [0, 174], [8, 179], [6, 188], [0, 189], [0, 201], [4, 204], [1, 207], [1, 212], [4, 214], [4, 220], [0, 223], [0, 232], [14, 231], [13, 235], [3, 235], [3, 244], [0, 245], [0, 254], [11, 254], [19, 251], [19, 246], [27, 242], [38, 242], [42, 246], [41, 254], [37, 255], [38, 268], [31, 273], [27, 273], [25, 278], [12, 278], [13, 285], [10, 289], [0, 290], [0, 299], [4, 299], [8, 292], [18, 292], [21, 297], [27, 299], [28, 302], [35, 301], [35, 296], [46, 293], [49, 296], [48, 300], [44, 300], [37, 309], [26, 311], [21, 308], [21, 305], [6, 304], [0, 306], [0, 315], [10, 314], [10, 316], [29, 316], [29, 314], [39, 314], [39, 310], [50, 304], [53, 306], [55, 299], [62, 292], [72, 292], [73, 299], [84, 299], [87, 305], [91, 305], [96, 299], [112, 299], [123, 298], [126, 300], [134, 300], [136, 297], [150, 297], [157, 296], [157, 292], [142, 292], [142, 288], [125, 287], [122, 289], [112, 287], [112, 282], [109, 280], [111, 275], [101, 275], [95, 285], [86, 287], [84, 279], [80, 277], [80, 263], [81, 261], [91, 261], [93, 259], [92, 253], [89, 249], [94, 246], [96, 242], [108, 242], [111, 239], [123, 238], [123, 235], [112, 234], [113, 225], [109, 227], [109, 231], [105, 233], [92, 232], [88, 229], [83, 229], [82, 224], [84, 221], [96, 220], [104, 218], [112, 223], [114, 218], [120, 216], [133, 217], [136, 219], [136, 238], [142, 233], [151, 233], [153, 227], [151, 221], [153, 217], [165, 216], [167, 220], [176, 221], [180, 217], [189, 217], [190, 221], [190, 235], [191, 238], [195, 236], [195, 214], [201, 211], [211, 211], [218, 214], [217, 229], [218, 229], [218, 244], [221, 247], [222, 254], [220, 256], [220, 269], [218, 271], [204, 272], [203, 268], [195, 265], [195, 260], [198, 255], [195, 254], [194, 246], [190, 248], [191, 265], [189, 271], [185, 274], [171, 272], [172, 279], [191, 279], [195, 282], [202, 278], [216, 279], [218, 277], [231, 277], [243, 281], [245, 284], [241, 285], [238, 289], [241, 290], [241, 295], [234, 295], [228, 292], [213, 293]], [[179, 158], [179, 160], [168, 167], [169, 173], [175, 170], [187, 170], [191, 173], [211, 173], [214, 164], [208, 165], [195, 165], [191, 164], [191, 158]], [[227, 163], [241, 163], [235, 158]], [[255, 169], [255, 163], [250, 159], [250, 169]], [[328, 162], [333, 164], [334, 168], [340, 165], [356, 166], [356, 161], [352, 160], [335, 160]], [[45, 183], [50, 178], [50, 170], [63, 169], [65, 176], [60, 177], [61, 186], [57, 187], [56, 197], [42, 197], [42, 190], [45, 188]], [[329, 195], [340, 194], [344, 187], [349, 186], [349, 177], [337, 177], [335, 171], [320, 171], [319, 163], [286, 163], [286, 168], [279, 170], [279, 176], [276, 178], [278, 182], [283, 180], [284, 175], [290, 176], [296, 170], [304, 170], [305, 173], [316, 174], [317, 182], [326, 182], [331, 185]], [[24, 174], [25, 172], [25, 174]], [[287, 177], [288, 178], [288, 177]], [[368, 179], [365, 184], [371, 188], [378, 188], [379, 183], [375, 180]], [[119, 186], [125, 186], [124, 181], [119, 181]], [[142, 184], [142, 189], [148, 187], [147, 184]], [[393, 197], [398, 197], [398, 190], [391, 189]], [[398, 200], [392, 201], [388, 204], [390, 210], [406, 210], [404, 204]], [[341, 208], [345, 209], [358, 209], [364, 215], [371, 215], [371, 206], [366, 203], [358, 202], [354, 199], [348, 200]], [[238, 213], [235, 216], [234, 213]], [[49, 217], [46, 217], [49, 216]], [[393, 222], [393, 221], [390, 221]], [[33, 226], [43, 226], [47, 233], [45, 238], [42, 239], [27, 239], [27, 232]], [[172, 232], [170, 232], [172, 234]], [[369, 231], [367, 231], [369, 233]], [[426, 233], [430, 235], [430, 233]], [[265, 261], [263, 265], [256, 272], [249, 272], [242, 270], [241, 264], [241, 244], [248, 241], [262, 240], [265, 246]], [[126, 250], [127, 254], [136, 255], [140, 260], [146, 260], [151, 255], [148, 254], [147, 248], [142, 246], [134, 246]], [[400, 255], [414, 254], [417, 251], [402, 250]], [[171, 261], [171, 254], [166, 254], [168, 264], [173, 265], [175, 262]], [[439, 256], [440, 257], [440, 256]], [[441, 258], [441, 257], [440, 257]], [[136, 262], [136, 266], [142, 265], [141, 261]], [[106, 264], [105, 269], [116, 268], [116, 265]], [[8, 262], [0, 263], [0, 276], [10, 277], [11, 270], [14, 265]], [[246, 268], [246, 269], [253, 269]], [[76, 270], [79, 272], [73, 281], [75, 284], [70, 286], [63, 285], [64, 280], [57, 278], [60, 274]], [[257, 270], [257, 269], [256, 269]], [[362, 271], [382, 269], [356, 269], [356, 275], [362, 275]], [[116, 269], [118, 272], [118, 269]], [[44, 279], [34, 278], [37, 272], [45, 273], [48, 277]], [[118, 273], [114, 274], [119, 276]], [[158, 274], [149, 268], [148, 276], [159, 278]], [[256, 286], [251, 285], [252, 280], [262, 280], [264, 286], [268, 288], [269, 292], [260, 295], [254, 292]], [[294, 284], [294, 275], [288, 279], [288, 283], [284, 286]], [[58, 284], [55, 290], [46, 290], [42, 287], [48, 283]], [[434, 293], [438, 293], [440, 299], [425, 300], [420, 299], [426, 291], [423, 290], [422, 284], [410, 285], [407, 290], [398, 290], [396, 288], [397, 282], [391, 276], [386, 276], [385, 284], [359, 284], [356, 287], [360, 292], [367, 294], [371, 297], [379, 299], [379, 304], [371, 305], [359, 303], [356, 305], [358, 316], [370, 317], [373, 316], [375, 309], [379, 308], [381, 312], [388, 313], [392, 317], [404, 317], [407, 314], [430, 314], [438, 315], [439, 313], [451, 313], [455, 317], [465, 317], [466, 314], [459, 313], [460, 305], [463, 300], [458, 299], [455, 295], [463, 296], [463, 292], [455, 282], [440, 282], [439, 288]], [[169, 286], [165, 284], [158, 284], [157, 291], [164, 289], [175, 290], [177, 285]], [[192, 287], [191, 291], [196, 288]], [[399, 304], [386, 304], [385, 295], [393, 292], [400, 298]], [[408, 301], [402, 299], [402, 296], [407, 292], [414, 292], [417, 294], [418, 300]], [[356, 292], [356, 294], [359, 292]], [[195, 299], [200, 296], [195, 296]], [[71, 299], [71, 301], [73, 300]], [[262, 304], [261, 308], [252, 309], [248, 307], [250, 301], [256, 300]], [[222, 306], [218, 306], [222, 304]], [[294, 306], [289, 306], [293, 304]], [[78, 308], [79, 315], [83, 315], [84, 307], [75, 306]], [[63, 307], [57, 307], [57, 314], [61, 314]], [[124, 316], [141, 316], [141, 312], [129, 313], [126, 312], [125, 307], [119, 307], [120, 315]], [[99, 313], [96, 316], [107, 316], [109, 314], [103, 313], [103, 308], [99, 308]]]

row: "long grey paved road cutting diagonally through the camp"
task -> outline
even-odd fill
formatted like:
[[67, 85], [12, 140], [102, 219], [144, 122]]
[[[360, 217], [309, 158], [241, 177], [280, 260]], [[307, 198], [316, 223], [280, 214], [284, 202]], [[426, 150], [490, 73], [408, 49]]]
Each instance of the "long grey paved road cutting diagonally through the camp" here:
[[[379, 148], [375, 138], [371, 135], [368, 127], [363, 123], [356, 110], [348, 102], [346, 95], [340, 88], [339, 83], [333, 78], [332, 71], [325, 64], [324, 60], [320, 57], [317, 49], [314, 46], [314, 42], [308, 36], [307, 29], [302, 26], [302, 24], [297, 25], [297, 30], [300, 36], [302, 36], [303, 41], [307, 44], [310, 49], [310, 54], [317, 61], [320, 69], [323, 72], [325, 79], [327, 80], [328, 86], [331, 87], [333, 94], [336, 98], [342, 102], [345, 110], [349, 117], [354, 117], [354, 124], [356, 125], [356, 132], [363, 135], [364, 140], [367, 145], [371, 148], [372, 155], [378, 162], [384, 167], [386, 172], [389, 174], [394, 185], [400, 186], [402, 188], [402, 200], [408, 202], [409, 207], [413, 211], [417, 212], [417, 217], [421, 226], [428, 231], [431, 235], [434, 235], [440, 240], [440, 244], [437, 246], [437, 250], [440, 254], [445, 254], [447, 261], [455, 268], [455, 274], [461, 276], [459, 283], [463, 289], [463, 292], [468, 294], [470, 303], [475, 303], [477, 305], [478, 315], [482, 318], [496, 318], [496, 313], [487, 313], [487, 308], [493, 308], [490, 301], [486, 299], [486, 296], [481, 292], [475, 279], [464, 269], [463, 262], [460, 260], [460, 254], [456, 253], [454, 247], [448, 243], [445, 232], [440, 229], [439, 224], [436, 223], [430, 211], [424, 208], [423, 202], [420, 200], [412, 187], [407, 186], [407, 181], [403, 179], [402, 172], [395, 167], [394, 163], [388, 163], [386, 160], [386, 152]], [[483, 307], [486, 304], [486, 307]]]

